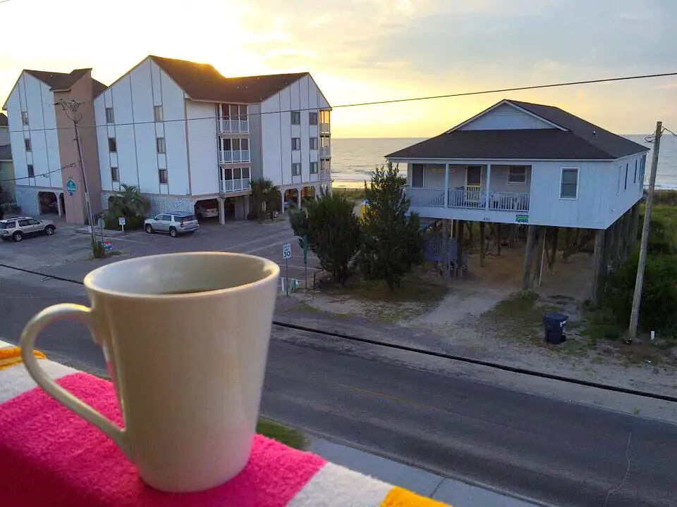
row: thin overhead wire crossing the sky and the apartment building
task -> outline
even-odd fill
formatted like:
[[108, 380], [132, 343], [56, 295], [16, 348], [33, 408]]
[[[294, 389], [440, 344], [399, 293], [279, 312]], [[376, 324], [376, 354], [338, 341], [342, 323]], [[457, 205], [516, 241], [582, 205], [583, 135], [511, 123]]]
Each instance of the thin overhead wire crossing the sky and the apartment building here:
[[[461, 96], [471, 96], [471, 95], [486, 95], [486, 94], [495, 94], [495, 93], [504, 93], [504, 92], [519, 92], [522, 90], [531, 90], [531, 89], [542, 89], [542, 88], [555, 88], [555, 87], [566, 87], [566, 86], [574, 86], [577, 84], [594, 84], [594, 83], [602, 83], [602, 82], [615, 82], [615, 81], [629, 81], [629, 80], [640, 80], [640, 79], [652, 79], [656, 77], [670, 77], [670, 76], [677, 76], [677, 72], [673, 73], [661, 73], [661, 74], [642, 74], [642, 75], [633, 75], [633, 76], [622, 76], [622, 77], [607, 77], [604, 79], [597, 79], [597, 80], [583, 80], [583, 81], [568, 81], [568, 82], [559, 82], [559, 83], [551, 83], [551, 84], [534, 84], [530, 86], [523, 86], [523, 87], [513, 87], [513, 88], [498, 88], [498, 89], [488, 89], [488, 90], [479, 90], [475, 92], [462, 92], [462, 93], [455, 93], [455, 94], [444, 94], [444, 95], [430, 95], [430, 96], [418, 96], [418, 97], [411, 97], [409, 99], [392, 99], [392, 100], [384, 100], [384, 101], [373, 101], [373, 102], [357, 102], [355, 104], [339, 104], [338, 106], [331, 106], [332, 109], [339, 109], [339, 108], [349, 108], [349, 107], [360, 107], [360, 106], [377, 106], [380, 104], [397, 104], [401, 102], [411, 102], [411, 101], [422, 101], [422, 100], [433, 100], [433, 99], [451, 99], [455, 97], [461, 97]], [[319, 107], [317, 108], [298, 108], [298, 109], [286, 109], [283, 111], [259, 111], [256, 113], [248, 113], [248, 117], [250, 116], [262, 116], [262, 115], [267, 115], [267, 114], [281, 114], [281, 113], [292, 113], [296, 111], [317, 111], [320, 109]], [[111, 125], [113, 127], [125, 127], [125, 126], [131, 126], [131, 125], [148, 125], [152, 123], [172, 123], [172, 122], [188, 122], [188, 121], [196, 121], [196, 120], [216, 120], [216, 116], [203, 116], [200, 118], [180, 118], [176, 120], [163, 120], [162, 122], [156, 122], [154, 120], [149, 120], [149, 121], [139, 121], [139, 122], [131, 122], [131, 123], [103, 123], [102, 125], [79, 125], [80, 128], [96, 128], [96, 127], [106, 127], [107, 125]], [[71, 127], [49, 127], [49, 128], [28, 128], [26, 130], [30, 132], [43, 132], [46, 130], [61, 130], [61, 129], [68, 129]], [[10, 130], [9, 132], [26, 132], [26, 130], [19, 129], [19, 130]], [[232, 133], [237, 133], [237, 132], [232, 132]]]

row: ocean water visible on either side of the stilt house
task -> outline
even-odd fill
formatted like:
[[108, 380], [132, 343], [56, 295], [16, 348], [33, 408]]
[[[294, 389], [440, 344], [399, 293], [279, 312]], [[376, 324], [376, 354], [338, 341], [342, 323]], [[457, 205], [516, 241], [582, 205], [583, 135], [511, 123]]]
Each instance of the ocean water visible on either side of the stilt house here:
[[[645, 134], [627, 135], [628, 139], [651, 148]], [[369, 180], [370, 171], [385, 163], [384, 155], [405, 148], [425, 138], [394, 137], [374, 139], [331, 139], [331, 177], [334, 187], [359, 187]], [[653, 151], [647, 156], [645, 184], [649, 184], [649, 168]], [[677, 189], [677, 137], [665, 132], [661, 138], [656, 187]]]

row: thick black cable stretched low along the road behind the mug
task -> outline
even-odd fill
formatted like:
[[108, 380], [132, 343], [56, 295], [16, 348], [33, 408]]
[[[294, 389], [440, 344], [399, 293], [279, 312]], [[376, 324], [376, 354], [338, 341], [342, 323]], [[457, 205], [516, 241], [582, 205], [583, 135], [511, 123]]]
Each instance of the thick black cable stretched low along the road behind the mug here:
[[[16, 271], [21, 271], [23, 273], [30, 273], [31, 275], [48, 277], [48, 278], [52, 278], [54, 280], [60, 280], [61, 282], [70, 282], [70, 283], [73, 283], [73, 284], [84, 285], [84, 282], [82, 280], [73, 280], [72, 278], [66, 278], [66, 277], [61, 277], [61, 276], [56, 276], [56, 275], [48, 275], [47, 273], [41, 273], [39, 271], [30, 270], [30, 269], [27, 269], [27, 268], [18, 268], [17, 266], [8, 265], [8, 264], [5, 264], [5, 263], [0, 263], [0, 267], [11, 269], [11, 270], [16, 270]], [[571, 377], [562, 377], [561, 375], [551, 375], [550, 373], [543, 373], [543, 372], [534, 371], [534, 370], [526, 370], [525, 368], [517, 368], [515, 366], [508, 366], [508, 365], [504, 365], [504, 364], [501, 364], [501, 363], [493, 363], [491, 361], [482, 361], [481, 359], [467, 358], [467, 357], [464, 357], [464, 356], [455, 356], [453, 354], [448, 354], [448, 353], [444, 353], [444, 352], [437, 352], [437, 351], [430, 351], [430, 350], [426, 350], [426, 349], [417, 349], [416, 347], [413, 347], [413, 346], [394, 344], [394, 343], [389, 343], [389, 342], [382, 342], [381, 340], [375, 340], [375, 339], [370, 339], [370, 338], [355, 337], [355, 336], [352, 336], [350, 334], [343, 334], [343, 333], [338, 333], [338, 332], [318, 330], [318, 329], [315, 329], [314, 327], [306, 327], [306, 326], [301, 326], [301, 325], [295, 325], [295, 324], [290, 324], [290, 323], [286, 323], [286, 322], [281, 322], [279, 320], [273, 320], [273, 324], [278, 326], [278, 327], [285, 327], [287, 329], [291, 329], [291, 330], [295, 330], [295, 331], [309, 332], [309, 333], [312, 333], [312, 334], [322, 334], [323, 336], [340, 338], [340, 339], [348, 340], [350, 342], [358, 342], [358, 343], [363, 343], [363, 344], [368, 344], [368, 345], [382, 346], [382, 347], [387, 348], [387, 349], [395, 349], [395, 350], [400, 350], [400, 351], [405, 351], [405, 352], [413, 352], [413, 353], [422, 354], [424, 356], [432, 356], [432, 357], [437, 357], [437, 358], [442, 358], [442, 359], [449, 359], [449, 361], [457, 361], [457, 362], [468, 363], [468, 364], [477, 365], [477, 366], [485, 366], [487, 368], [494, 368], [495, 370], [503, 370], [503, 371], [507, 371], [507, 372], [511, 372], [511, 373], [519, 373], [520, 375], [529, 375], [531, 377], [539, 377], [539, 378], [544, 378], [544, 379], [548, 379], [548, 380], [557, 380], [559, 382], [567, 382], [569, 384], [578, 384], [578, 385], [581, 385], [581, 386], [584, 386], [584, 387], [594, 387], [596, 389], [602, 389], [604, 391], [619, 392], [619, 393], [623, 393], [623, 394], [632, 394], [633, 396], [642, 396], [644, 398], [659, 399], [661, 401], [671, 401], [673, 403], [677, 403], [677, 397], [668, 396], [666, 394], [657, 394], [657, 393], [652, 393], [652, 392], [638, 391], [637, 389], [628, 389], [626, 387], [618, 387], [618, 386], [607, 385], [607, 384], [599, 384], [598, 382], [590, 382], [590, 381], [587, 381], [587, 380], [579, 380], [579, 379], [574, 379], [574, 378], [571, 378]]]

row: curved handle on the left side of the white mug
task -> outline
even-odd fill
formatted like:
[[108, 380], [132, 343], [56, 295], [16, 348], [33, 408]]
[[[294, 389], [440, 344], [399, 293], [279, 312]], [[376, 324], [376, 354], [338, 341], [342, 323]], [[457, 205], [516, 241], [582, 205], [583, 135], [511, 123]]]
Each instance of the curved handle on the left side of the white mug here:
[[21, 333], [21, 358], [26, 365], [26, 369], [33, 380], [42, 387], [49, 396], [59, 401], [66, 408], [70, 408], [81, 418], [102, 430], [108, 437], [110, 437], [117, 446], [122, 449], [128, 458], [131, 459], [131, 451], [126, 438], [125, 431], [118, 425], [114, 424], [108, 418], [105, 418], [101, 413], [94, 410], [84, 401], [75, 398], [73, 394], [63, 389], [54, 380], [45, 375], [44, 370], [40, 368], [37, 358], [33, 355], [33, 346], [37, 335], [50, 323], [57, 320], [79, 320], [87, 325], [87, 328], [92, 332], [92, 309], [87, 306], [82, 306], [73, 303], [60, 303], [49, 308], [44, 308], [28, 321]]

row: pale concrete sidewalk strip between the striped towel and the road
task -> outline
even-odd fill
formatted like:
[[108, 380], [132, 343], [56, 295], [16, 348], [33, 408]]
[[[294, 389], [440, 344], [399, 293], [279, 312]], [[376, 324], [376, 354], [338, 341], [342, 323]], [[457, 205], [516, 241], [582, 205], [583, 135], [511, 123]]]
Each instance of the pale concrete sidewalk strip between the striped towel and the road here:
[[[355, 472], [395, 484], [422, 496], [439, 500], [454, 507], [533, 507], [547, 506], [534, 500], [479, 487], [460, 480], [447, 479], [420, 468], [413, 468], [381, 456], [310, 437], [307, 450]], [[491, 463], [488, 463], [491, 466]]]

